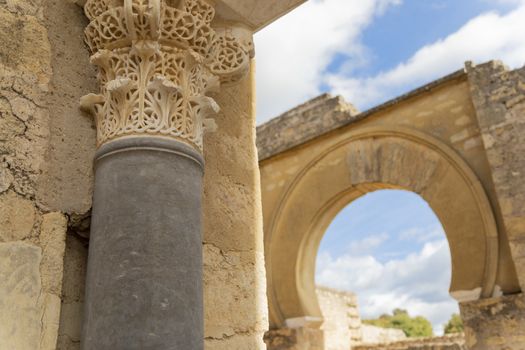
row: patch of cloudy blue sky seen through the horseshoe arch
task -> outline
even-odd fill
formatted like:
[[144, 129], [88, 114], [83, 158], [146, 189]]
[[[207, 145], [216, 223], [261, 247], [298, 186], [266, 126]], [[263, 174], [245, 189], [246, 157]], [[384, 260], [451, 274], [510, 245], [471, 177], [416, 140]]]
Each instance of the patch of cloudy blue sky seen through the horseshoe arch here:
[[321, 241], [316, 282], [357, 293], [363, 318], [405, 308], [427, 317], [438, 334], [458, 312], [448, 294], [443, 228], [428, 204], [408, 191], [372, 192], [344, 208]]

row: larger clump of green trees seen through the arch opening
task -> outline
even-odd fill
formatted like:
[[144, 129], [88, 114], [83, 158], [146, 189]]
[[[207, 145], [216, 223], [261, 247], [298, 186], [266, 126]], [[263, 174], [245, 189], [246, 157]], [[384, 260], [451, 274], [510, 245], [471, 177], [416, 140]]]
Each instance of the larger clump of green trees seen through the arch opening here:
[[392, 315], [381, 315], [375, 320], [364, 320], [363, 323], [381, 327], [401, 329], [409, 338], [431, 337], [434, 335], [432, 324], [422, 316], [411, 317], [406, 310], [395, 309]]

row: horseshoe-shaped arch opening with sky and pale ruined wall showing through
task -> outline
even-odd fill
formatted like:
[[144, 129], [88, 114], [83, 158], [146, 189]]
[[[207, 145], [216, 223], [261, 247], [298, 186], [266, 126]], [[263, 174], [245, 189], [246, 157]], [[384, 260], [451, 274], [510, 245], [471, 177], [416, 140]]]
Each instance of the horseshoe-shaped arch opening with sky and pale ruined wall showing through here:
[[[315, 275], [326, 348], [349, 348], [379, 337], [395, 341], [443, 334], [443, 325], [459, 310], [448, 293], [448, 242], [429, 204], [410, 191], [372, 190], [331, 219]], [[361, 325], [361, 319], [394, 310], [430, 323], [409, 334]]]

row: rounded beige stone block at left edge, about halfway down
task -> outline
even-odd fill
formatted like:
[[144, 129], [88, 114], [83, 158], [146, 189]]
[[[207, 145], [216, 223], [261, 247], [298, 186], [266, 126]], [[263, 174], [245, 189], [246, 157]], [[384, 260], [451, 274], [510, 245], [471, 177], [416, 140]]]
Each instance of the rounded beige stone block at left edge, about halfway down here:
[[23, 240], [35, 224], [35, 206], [14, 192], [0, 196], [0, 242]]

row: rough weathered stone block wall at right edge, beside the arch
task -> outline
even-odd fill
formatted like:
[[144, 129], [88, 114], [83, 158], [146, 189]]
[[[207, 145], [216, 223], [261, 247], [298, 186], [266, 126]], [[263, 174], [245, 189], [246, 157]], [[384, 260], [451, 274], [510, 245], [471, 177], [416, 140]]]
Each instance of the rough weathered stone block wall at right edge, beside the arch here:
[[525, 290], [525, 67], [468, 65], [472, 101], [522, 290]]

